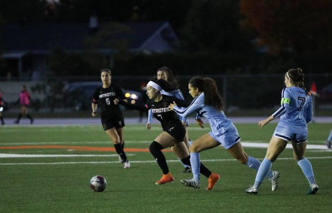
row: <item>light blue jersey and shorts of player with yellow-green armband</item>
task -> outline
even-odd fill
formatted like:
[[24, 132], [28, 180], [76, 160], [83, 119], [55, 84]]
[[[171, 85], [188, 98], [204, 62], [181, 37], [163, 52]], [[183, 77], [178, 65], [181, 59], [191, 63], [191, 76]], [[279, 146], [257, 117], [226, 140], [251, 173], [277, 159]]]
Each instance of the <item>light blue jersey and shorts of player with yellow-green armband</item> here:
[[302, 88], [287, 87], [282, 90], [281, 107], [272, 116], [280, 121], [274, 136], [286, 141], [301, 143], [307, 140], [307, 123], [312, 120], [312, 97]]

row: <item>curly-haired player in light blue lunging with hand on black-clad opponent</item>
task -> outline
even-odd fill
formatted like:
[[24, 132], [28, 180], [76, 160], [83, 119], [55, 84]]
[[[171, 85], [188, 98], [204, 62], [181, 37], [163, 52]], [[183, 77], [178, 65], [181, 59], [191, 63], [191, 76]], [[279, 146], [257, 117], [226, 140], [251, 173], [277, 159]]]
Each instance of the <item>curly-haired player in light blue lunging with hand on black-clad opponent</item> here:
[[[185, 109], [181, 109], [176, 103], [171, 104], [169, 108], [173, 109], [181, 116], [188, 116], [190, 113], [197, 111], [196, 122], [201, 128], [204, 128], [203, 121], [199, 118], [204, 116], [211, 126], [211, 131], [199, 137], [192, 146], [189, 147], [190, 162], [194, 177], [192, 179], [182, 179], [185, 186], [199, 189], [199, 152], [222, 145], [236, 160], [247, 164], [250, 168], [258, 170], [261, 162], [253, 157], [248, 156], [240, 143], [240, 136], [232, 121], [228, 119], [222, 110], [222, 98], [218, 93], [217, 85], [211, 78], [194, 77], [189, 81], [189, 94], [194, 101]], [[279, 173], [270, 171], [267, 177], [272, 183], [272, 191], [278, 186]], [[208, 178], [206, 190], [211, 190], [220, 176], [212, 173]]]

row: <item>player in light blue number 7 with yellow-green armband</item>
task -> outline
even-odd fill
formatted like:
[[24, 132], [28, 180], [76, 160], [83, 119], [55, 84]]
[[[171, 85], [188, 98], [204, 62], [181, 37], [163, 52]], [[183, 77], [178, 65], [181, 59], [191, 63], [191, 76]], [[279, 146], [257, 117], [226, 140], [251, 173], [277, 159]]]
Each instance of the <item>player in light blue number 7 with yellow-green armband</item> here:
[[307, 147], [308, 127], [307, 123], [312, 119], [312, 97], [304, 88], [304, 74], [301, 68], [290, 69], [285, 74], [286, 88], [282, 90], [281, 106], [271, 116], [260, 121], [259, 127], [280, 116], [280, 121], [268, 144], [266, 156], [257, 171], [255, 184], [246, 190], [249, 194], [257, 194], [266, 173], [272, 163], [285, 149], [289, 141], [292, 142], [293, 156], [301, 167], [309, 182], [307, 194], [316, 194], [318, 185], [309, 160], [304, 157]]

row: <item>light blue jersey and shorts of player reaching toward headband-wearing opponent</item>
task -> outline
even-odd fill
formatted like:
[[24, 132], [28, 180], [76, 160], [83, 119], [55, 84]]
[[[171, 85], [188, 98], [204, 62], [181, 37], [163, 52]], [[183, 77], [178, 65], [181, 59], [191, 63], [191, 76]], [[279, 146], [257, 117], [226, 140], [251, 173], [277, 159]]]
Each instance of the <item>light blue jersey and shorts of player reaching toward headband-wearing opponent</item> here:
[[[226, 117], [222, 110], [218, 110], [213, 106], [204, 105], [204, 93], [197, 96], [193, 102], [185, 109], [174, 106], [173, 110], [181, 116], [187, 117], [190, 113], [198, 111], [196, 119], [199, 116], [204, 116], [211, 126], [210, 135], [225, 149], [232, 147], [235, 143], [240, 141], [238, 132], [230, 119]], [[225, 133], [231, 134], [225, 134]]]

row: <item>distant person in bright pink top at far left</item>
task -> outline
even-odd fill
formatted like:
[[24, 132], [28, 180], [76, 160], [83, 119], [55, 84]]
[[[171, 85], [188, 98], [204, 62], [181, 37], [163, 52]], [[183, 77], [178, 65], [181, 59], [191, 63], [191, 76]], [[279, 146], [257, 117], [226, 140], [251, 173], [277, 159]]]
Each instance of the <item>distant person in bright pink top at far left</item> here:
[[30, 119], [30, 124], [33, 124], [34, 119], [29, 114], [28, 106], [31, 102], [31, 96], [30, 93], [25, 85], [22, 85], [21, 93], [19, 94], [18, 100], [14, 104], [20, 104], [20, 113], [18, 114], [17, 119], [14, 121], [14, 123], [18, 124], [22, 115], [25, 115], [27, 118]]

